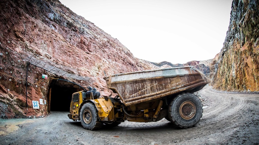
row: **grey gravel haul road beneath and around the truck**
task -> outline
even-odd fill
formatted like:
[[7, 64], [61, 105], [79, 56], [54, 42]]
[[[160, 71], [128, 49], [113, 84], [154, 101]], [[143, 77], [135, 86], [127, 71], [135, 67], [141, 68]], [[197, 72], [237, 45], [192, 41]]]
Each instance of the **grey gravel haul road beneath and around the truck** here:
[[223, 93], [205, 87], [197, 93], [203, 117], [193, 128], [179, 129], [166, 119], [125, 121], [114, 128], [86, 130], [69, 112], [35, 119], [0, 120], [0, 144], [259, 144], [259, 94]]

